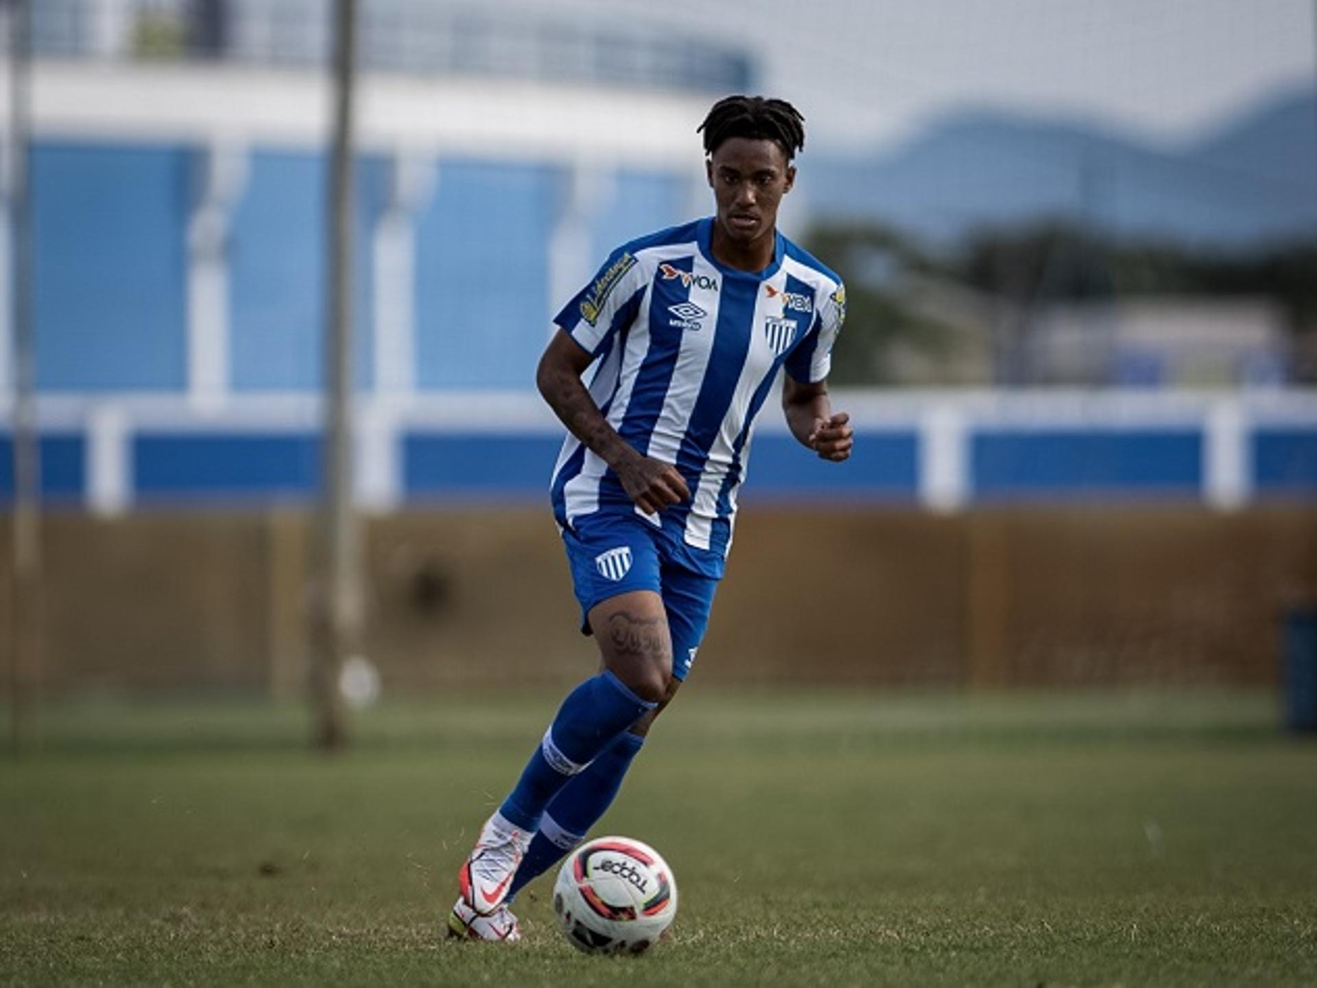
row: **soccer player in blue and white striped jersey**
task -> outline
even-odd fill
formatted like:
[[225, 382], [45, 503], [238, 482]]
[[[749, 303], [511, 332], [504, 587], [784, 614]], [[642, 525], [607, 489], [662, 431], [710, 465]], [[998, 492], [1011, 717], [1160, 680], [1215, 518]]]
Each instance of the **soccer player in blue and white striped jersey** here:
[[540, 360], [540, 393], [570, 433], [553, 514], [602, 671], [562, 701], [462, 864], [449, 917], [460, 937], [519, 937], [508, 902], [585, 839], [690, 672], [751, 425], [778, 370], [795, 439], [824, 460], [851, 454], [824, 383], [846, 292], [777, 231], [803, 117], [784, 100], [728, 96], [697, 132], [715, 215], [615, 250]]

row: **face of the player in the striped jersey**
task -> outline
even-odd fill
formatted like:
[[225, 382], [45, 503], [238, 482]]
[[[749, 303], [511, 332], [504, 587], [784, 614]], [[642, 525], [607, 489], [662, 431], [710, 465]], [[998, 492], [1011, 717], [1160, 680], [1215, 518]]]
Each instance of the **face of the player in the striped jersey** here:
[[728, 137], [706, 167], [723, 233], [743, 245], [772, 236], [777, 207], [795, 182], [795, 166], [777, 142]]

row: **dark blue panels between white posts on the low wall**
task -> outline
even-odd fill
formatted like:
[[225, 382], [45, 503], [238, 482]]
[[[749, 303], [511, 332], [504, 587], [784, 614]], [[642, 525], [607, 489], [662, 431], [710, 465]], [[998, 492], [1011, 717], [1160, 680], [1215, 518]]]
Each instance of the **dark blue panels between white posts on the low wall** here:
[[[769, 412], [772, 414], [772, 412]], [[975, 429], [967, 437], [965, 502], [1168, 502], [1208, 499], [1204, 431], [1196, 428]], [[406, 503], [527, 503], [548, 498], [561, 437], [543, 429], [460, 425], [402, 428], [398, 499]], [[815, 460], [782, 432], [753, 443], [743, 499], [811, 503], [918, 505], [922, 447], [915, 428], [860, 427], [844, 466]], [[0, 435], [0, 495], [13, 487], [12, 439]], [[1317, 498], [1317, 424], [1258, 428], [1246, 437], [1243, 478], [1255, 502]], [[308, 502], [320, 480], [315, 431], [142, 427], [126, 440], [132, 505], [261, 506]], [[91, 497], [83, 431], [42, 436], [42, 489], [51, 505]]]

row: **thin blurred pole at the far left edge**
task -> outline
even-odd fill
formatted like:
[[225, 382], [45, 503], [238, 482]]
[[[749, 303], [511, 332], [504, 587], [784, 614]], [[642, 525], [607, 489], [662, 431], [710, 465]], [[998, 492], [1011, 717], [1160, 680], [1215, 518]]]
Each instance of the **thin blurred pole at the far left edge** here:
[[28, 178], [30, 0], [9, 0], [9, 302], [13, 321], [13, 623], [9, 700], [14, 750], [36, 742], [41, 690], [41, 448], [32, 323], [32, 195]]

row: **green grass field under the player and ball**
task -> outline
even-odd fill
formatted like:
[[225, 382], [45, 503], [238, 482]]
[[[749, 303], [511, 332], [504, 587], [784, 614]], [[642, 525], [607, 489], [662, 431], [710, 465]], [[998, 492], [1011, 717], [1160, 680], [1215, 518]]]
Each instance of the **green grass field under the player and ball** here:
[[0, 980], [1314, 984], [1317, 744], [1266, 696], [691, 690], [603, 830], [681, 912], [637, 959], [443, 939], [453, 873], [554, 697], [360, 715], [78, 703], [0, 756]]

